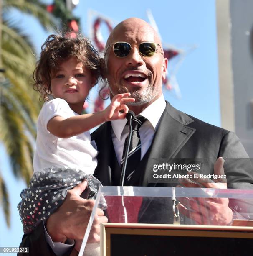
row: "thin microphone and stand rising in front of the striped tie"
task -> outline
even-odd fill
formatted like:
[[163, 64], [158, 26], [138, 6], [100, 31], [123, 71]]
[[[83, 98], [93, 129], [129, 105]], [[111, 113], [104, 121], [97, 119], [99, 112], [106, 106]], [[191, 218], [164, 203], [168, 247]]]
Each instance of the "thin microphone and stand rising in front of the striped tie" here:
[[[127, 141], [126, 141], [126, 150], [125, 150], [125, 155], [124, 155], [125, 161], [124, 161], [123, 166], [122, 166], [121, 177], [120, 177], [120, 185], [121, 185], [122, 189], [123, 189], [123, 186], [124, 186], [127, 157], [128, 157], [128, 154], [129, 154], [130, 141], [131, 141], [131, 138], [132, 138], [132, 130], [133, 130], [132, 129], [132, 119], [134, 118], [134, 115], [135, 114], [134, 114], [133, 111], [129, 111], [126, 114], [126, 118], [128, 120], [129, 135], [128, 135], [128, 138], [127, 138]], [[123, 190], [123, 193], [124, 193], [124, 190]], [[123, 217], [122, 221], [124, 223], [127, 223], [127, 213], [126, 213], [126, 207], [124, 205], [124, 196], [121, 197], [121, 205], [122, 205], [122, 210], [123, 210], [123, 215], [121, 215]]]

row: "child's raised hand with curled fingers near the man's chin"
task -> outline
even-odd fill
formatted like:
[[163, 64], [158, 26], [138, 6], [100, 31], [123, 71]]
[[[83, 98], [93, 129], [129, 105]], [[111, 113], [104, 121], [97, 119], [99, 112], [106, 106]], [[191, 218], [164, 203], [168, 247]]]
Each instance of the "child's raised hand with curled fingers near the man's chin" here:
[[[121, 93], [115, 95], [111, 104], [103, 110], [103, 115], [106, 121], [116, 120], [116, 119], [124, 119], [126, 117], [126, 113], [128, 112], [128, 107], [126, 106], [127, 102], [134, 102], [134, 98], [129, 98], [131, 94]], [[120, 110], [124, 110], [124, 112], [120, 112]]]

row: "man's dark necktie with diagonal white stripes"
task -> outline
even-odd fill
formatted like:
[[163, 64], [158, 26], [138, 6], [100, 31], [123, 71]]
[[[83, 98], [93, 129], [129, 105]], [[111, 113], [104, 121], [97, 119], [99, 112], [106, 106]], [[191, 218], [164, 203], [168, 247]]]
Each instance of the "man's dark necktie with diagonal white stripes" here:
[[[139, 136], [139, 128], [142, 126], [142, 124], [147, 120], [147, 118], [144, 118], [143, 116], [139, 116], [138, 118], [132, 119], [132, 138], [130, 141], [130, 147], [129, 147], [129, 154], [127, 157], [127, 164], [126, 164], [126, 175], [125, 175], [125, 181], [124, 185], [129, 182], [129, 180], [132, 178], [132, 175], [135, 172], [135, 168], [141, 161], [141, 140]], [[128, 125], [128, 123], [126, 123]], [[124, 155], [126, 151], [126, 142], [128, 137], [125, 140], [124, 143], [124, 149], [123, 149], [123, 155], [121, 160], [121, 170], [125, 161]]]

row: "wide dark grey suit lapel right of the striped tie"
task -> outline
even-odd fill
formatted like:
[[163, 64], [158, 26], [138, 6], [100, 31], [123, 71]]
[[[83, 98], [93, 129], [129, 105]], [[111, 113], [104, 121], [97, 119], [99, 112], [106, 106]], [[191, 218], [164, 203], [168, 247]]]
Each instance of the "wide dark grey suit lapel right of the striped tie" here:
[[155, 164], [154, 159], [174, 158], [195, 132], [194, 128], [186, 126], [193, 120], [185, 113], [173, 108], [168, 102], [166, 103], [166, 108], [150, 146], [147, 162], [142, 166], [141, 186], [148, 186], [149, 184], [148, 179], [153, 174], [151, 167]]

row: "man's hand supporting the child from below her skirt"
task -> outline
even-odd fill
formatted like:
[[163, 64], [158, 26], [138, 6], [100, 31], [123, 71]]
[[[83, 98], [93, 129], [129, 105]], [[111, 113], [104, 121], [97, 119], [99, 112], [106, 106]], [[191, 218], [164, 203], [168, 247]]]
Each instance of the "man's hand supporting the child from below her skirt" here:
[[[46, 230], [53, 242], [65, 243], [67, 238], [83, 239], [95, 204], [94, 200], [86, 200], [80, 197], [86, 187], [87, 181], [84, 181], [68, 190], [61, 207], [48, 218]], [[90, 243], [99, 242], [100, 223], [107, 221], [104, 212], [97, 209], [89, 235]]]

